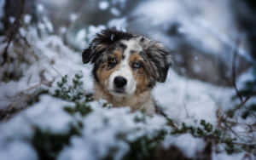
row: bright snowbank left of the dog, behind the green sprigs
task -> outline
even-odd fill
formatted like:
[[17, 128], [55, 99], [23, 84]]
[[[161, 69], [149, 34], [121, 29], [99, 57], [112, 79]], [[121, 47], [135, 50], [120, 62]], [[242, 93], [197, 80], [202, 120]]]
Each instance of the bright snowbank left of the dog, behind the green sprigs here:
[[[0, 108], [8, 106], [10, 103], [15, 103], [19, 107], [19, 100], [17, 102], [14, 101], [15, 94], [19, 94], [20, 92], [26, 91], [26, 89], [42, 83], [39, 75], [42, 71], [44, 71], [44, 77], [49, 82], [53, 79], [59, 80], [58, 78], [66, 74], [72, 76], [79, 71], [90, 77], [91, 66], [83, 66], [80, 54], [68, 49], [61, 41], [61, 37], [54, 35], [45, 36], [41, 40], [38, 38], [35, 28], [32, 28], [27, 32], [26, 38], [32, 46], [32, 50], [28, 49], [27, 52], [38, 57], [38, 62], [32, 66], [24, 67], [25, 76], [21, 77], [20, 81], [0, 83]], [[10, 47], [10, 49], [12, 48]], [[84, 83], [88, 84], [84, 86], [84, 90], [92, 92], [92, 81], [90, 79], [84, 79]], [[44, 84], [42, 85], [44, 86]]]

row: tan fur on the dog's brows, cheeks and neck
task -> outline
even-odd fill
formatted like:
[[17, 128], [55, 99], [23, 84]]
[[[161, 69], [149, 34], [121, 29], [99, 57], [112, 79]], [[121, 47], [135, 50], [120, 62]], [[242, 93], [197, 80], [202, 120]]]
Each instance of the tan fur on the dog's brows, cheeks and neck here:
[[[121, 56], [122, 55], [119, 50], [114, 50], [113, 54], [109, 55], [109, 57], [115, 57], [119, 61], [121, 60]], [[131, 54], [130, 66], [136, 61], [143, 61], [143, 58], [139, 54]], [[119, 64], [111, 69], [108, 69], [108, 61], [100, 65], [96, 71], [97, 77], [99, 77], [99, 82], [95, 82], [96, 100], [100, 98], [108, 100], [108, 103], [111, 103], [113, 107], [130, 106], [131, 111], [148, 110], [146, 106], [143, 106], [144, 104], [147, 106], [153, 106], [154, 102], [151, 100], [150, 89], [148, 89], [148, 74], [146, 71], [144, 71], [143, 67], [132, 70], [133, 76], [137, 81], [137, 90], [135, 94], [129, 97], [116, 97], [108, 93], [107, 88], [109, 77], [113, 71], [116, 71], [117, 69], [119, 69]]]

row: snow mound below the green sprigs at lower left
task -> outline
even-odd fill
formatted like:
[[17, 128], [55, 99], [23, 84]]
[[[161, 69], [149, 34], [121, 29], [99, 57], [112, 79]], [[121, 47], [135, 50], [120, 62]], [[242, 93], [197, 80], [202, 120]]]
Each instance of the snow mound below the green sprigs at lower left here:
[[[45, 106], [46, 104], [48, 105]], [[8, 140], [29, 139], [34, 127], [50, 130], [52, 133], [67, 133], [69, 124], [72, 124], [74, 119], [64, 111], [64, 106], [73, 106], [73, 103], [49, 95], [41, 96], [39, 103], [21, 111], [18, 117], [8, 123], [0, 123], [0, 146]]]

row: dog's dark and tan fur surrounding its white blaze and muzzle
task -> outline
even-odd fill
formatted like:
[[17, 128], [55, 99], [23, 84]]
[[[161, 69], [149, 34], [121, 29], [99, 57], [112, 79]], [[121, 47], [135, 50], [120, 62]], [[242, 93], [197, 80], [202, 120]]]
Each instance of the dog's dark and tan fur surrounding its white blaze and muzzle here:
[[[109, 77], [113, 71], [119, 69], [119, 62], [124, 52], [122, 49], [125, 49], [119, 43], [122, 40], [131, 39], [142, 47], [139, 53], [131, 53], [129, 58], [132, 76], [137, 82], [135, 93], [125, 96], [110, 94], [108, 91]], [[111, 66], [111, 63], [108, 63], [109, 57], [115, 57], [118, 63]], [[94, 64], [92, 73], [95, 79], [96, 99], [108, 100], [114, 107], [130, 106], [131, 111], [143, 110], [148, 114], [155, 112], [154, 100], [150, 94], [151, 89], [154, 88], [156, 82], [166, 81], [167, 71], [172, 62], [171, 54], [160, 43], [131, 33], [107, 29], [96, 34], [88, 49], [84, 49], [82, 59], [84, 63]], [[133, 62], [138, 61], [143, 66], [132, 68]]]

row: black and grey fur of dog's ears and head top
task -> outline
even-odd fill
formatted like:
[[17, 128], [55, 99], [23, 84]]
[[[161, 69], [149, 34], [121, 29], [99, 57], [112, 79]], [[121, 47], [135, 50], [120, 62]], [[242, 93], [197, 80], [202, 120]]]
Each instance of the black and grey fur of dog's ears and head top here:
[[[114, 43], [117, 43], [120, 40], [129, 40], [133, 37], [138, 36], [111, 29], [96, 34], [96, 37], [90, 43], [89, 48], [84, 49], [82, 58], [84, 63], [94, 63], [92, 72], [97, 82], [97, 67], [102, 63], [104, 57], [106, 57], [103, 53], [108, 54], [109, 50], [115, 47], [113, 46]], [[171, 59], [171, 55], [163, 49], [159, 43], [151, 41], [146, 37], [142, 37], [139, 42], [143, 47], [143, 52], [140, 54], [143, 56], [144, 68], [150, 77], [148, 88], [153, 88], [155, 82], [164, 83], [166, 81], [167, 71], [171, 66], [171, 60], [168, 59]]]

